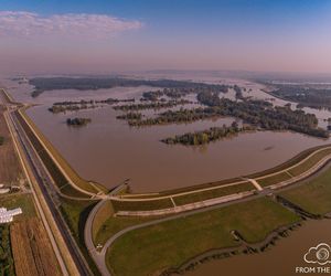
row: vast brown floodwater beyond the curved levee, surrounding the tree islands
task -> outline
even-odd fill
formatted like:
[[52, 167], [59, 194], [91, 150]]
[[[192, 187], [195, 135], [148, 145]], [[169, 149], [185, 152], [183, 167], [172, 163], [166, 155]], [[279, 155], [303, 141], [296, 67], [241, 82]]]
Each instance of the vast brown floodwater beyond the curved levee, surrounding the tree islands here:
[[[29, 116], [82, 177], [109, 188], [130, 179], [134, 192], [156, 192], [257, 172], [277, 166], [307, 148], [329, 142], [293, 132], [259, 131], [203, 147], [169, 146], [160, 139], [228, 125], [234, 119], [132, 128], [115, 118], [121, 113], [115, 112], [111, 106], [56, 115], [47, 108], [54, 102], [66, 99], [139, 98], [150, 87], [52, 91], [32, 99], [29, 85], [9, 81], [4, 84], [18, 100], [40, 104], [28, 110]], [[257, 98], [270, 98], [258, 84], [242, 81], [239, 85], [253, 88], [250, 95]], [[66, 126], [66, 118], [75, 116], [89, 117], [92, 124], [82, 128]], [[318, 114], [321, 120], [328, 116], [331, 117], [330, 113]]]

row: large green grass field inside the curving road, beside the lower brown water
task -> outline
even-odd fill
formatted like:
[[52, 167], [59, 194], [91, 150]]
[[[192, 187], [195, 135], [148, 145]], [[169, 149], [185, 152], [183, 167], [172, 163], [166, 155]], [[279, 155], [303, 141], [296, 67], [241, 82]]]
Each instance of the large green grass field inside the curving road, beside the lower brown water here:
[[117, 276], [157, 275], [212, 248], [239, 245], [232, 230], [256, 243], [273, 230], [299, 220], [261, 198], [128, 232], [108, 250], [106, 262]]

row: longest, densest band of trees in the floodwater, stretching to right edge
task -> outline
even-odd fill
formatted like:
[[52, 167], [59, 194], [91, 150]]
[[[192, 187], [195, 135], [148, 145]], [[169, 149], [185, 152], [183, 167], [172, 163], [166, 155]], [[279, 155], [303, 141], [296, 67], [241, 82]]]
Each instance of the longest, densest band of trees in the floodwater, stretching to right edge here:
[[226, 116], [242, 119], [245, 124], [266, 130], [292, 130], [314, 137], [329, 137], [325, 129], [318, 127], [316, 115], [306, 114], [299, 109], [292, 110], [289, 106], [274, 107], [271, 103], [252, 99], [234, 102], [220, 98], [217, 93], [210, 92], [197, 94], [197, 100], [206, 107], [167, 110], [154, 118], [128, 120], [128, 124], [130, 126], [152, 126]]

